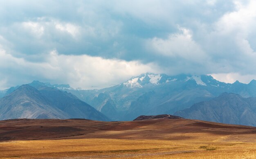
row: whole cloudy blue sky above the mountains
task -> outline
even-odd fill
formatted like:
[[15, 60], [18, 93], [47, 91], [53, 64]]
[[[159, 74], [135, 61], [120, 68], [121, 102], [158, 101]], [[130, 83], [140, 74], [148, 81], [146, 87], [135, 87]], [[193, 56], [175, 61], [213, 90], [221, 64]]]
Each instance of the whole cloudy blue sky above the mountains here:
[[0, 0], [0, 89], [145, 72], [256, 79], [255, 0]]

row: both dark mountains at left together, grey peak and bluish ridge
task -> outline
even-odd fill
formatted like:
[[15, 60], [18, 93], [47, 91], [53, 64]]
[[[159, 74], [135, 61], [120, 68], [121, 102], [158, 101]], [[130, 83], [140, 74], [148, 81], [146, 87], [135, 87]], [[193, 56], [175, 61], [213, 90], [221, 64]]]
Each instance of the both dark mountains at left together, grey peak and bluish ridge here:
[[0, 99], [0, 120], [14, 118], [86, 118], [109, 120], [74, 95], [53, 89], [22, 85]]

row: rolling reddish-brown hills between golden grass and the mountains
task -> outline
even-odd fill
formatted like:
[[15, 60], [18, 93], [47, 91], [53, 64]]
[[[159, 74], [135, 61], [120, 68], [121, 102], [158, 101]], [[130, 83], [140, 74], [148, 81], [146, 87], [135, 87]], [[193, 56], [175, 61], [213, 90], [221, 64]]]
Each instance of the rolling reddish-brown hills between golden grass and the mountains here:
[[164, 139], [256, 141], [256, 127], [159, 118], [130, 122], [16, 119], [0, 121], [0, 141], [45, 139]]

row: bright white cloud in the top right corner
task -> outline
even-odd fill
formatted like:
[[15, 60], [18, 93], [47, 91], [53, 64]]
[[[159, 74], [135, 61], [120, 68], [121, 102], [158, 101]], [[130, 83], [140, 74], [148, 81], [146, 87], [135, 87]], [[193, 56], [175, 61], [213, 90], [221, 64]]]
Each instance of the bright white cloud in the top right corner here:
[[251, 54], [254, 50], [249, 43], [254, 44], [255, 41], [251, 41], [250, 36], [256, 35], [256, 1], [243, 2], [234, 1], [236, 11], [224, 14], [214, 24], [216, 28], [214, 33], [223, 37], [233, 37], [241, 54]]

